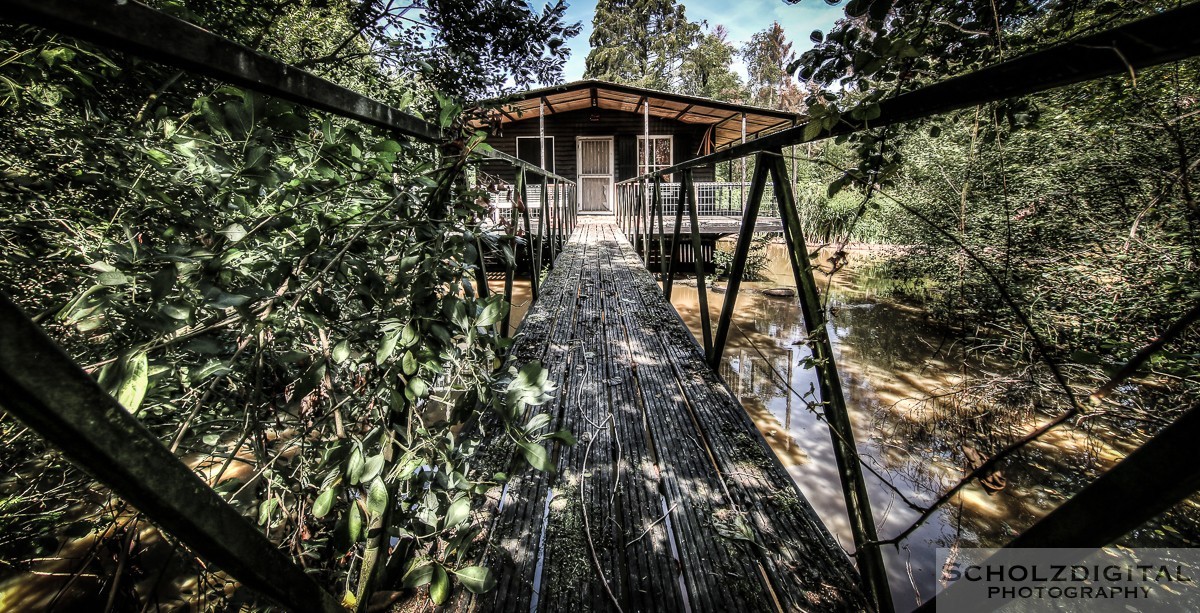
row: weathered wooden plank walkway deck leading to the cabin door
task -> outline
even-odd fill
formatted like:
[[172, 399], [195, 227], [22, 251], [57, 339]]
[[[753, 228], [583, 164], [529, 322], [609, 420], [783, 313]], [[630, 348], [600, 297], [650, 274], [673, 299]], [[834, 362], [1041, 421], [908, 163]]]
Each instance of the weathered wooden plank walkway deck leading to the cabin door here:
[[[510, 363], [575, 446], [493, 497], [499, 584], [460, 609], [865, 611], [857, 572], [611, 217], [582, 217]], [[498, 498], [498, 499], [494, 499]], [[602, 572], [598, 572], [596, 569]]]

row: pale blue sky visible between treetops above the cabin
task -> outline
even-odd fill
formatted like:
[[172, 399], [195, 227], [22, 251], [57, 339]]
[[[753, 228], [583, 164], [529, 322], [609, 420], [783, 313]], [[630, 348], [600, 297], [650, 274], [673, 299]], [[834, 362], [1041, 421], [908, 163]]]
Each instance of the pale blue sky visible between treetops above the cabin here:
[[[823, 0], [804, 0], [798, 5], [788, 5], [784, 0], [680, 0], [679, 4], [692, 22], [707, 20], [709, 29], [716, 24], [725, 25], [730, 31], [730, 42], [736, 48], [740, 48], [750, 36], [766, 29], [772, 22], [779, 22], [797, 55], [812, 47], [809, 32], [826, 31], [842, 16], [842, 7], [829, 6]], [[580, 22], [583, 26], [583, 31], [566, 43], [571, 48], [571, 59], [566, 61], [563, 73], [568, 82], [583, 78], [583, 60], [588, 56], [594, 12], [595, 0], [575, 0], [566, 8], [568, 23]], [[744, 78], [745, 70], [740, 60], [736, 61], [734, 70]]]

